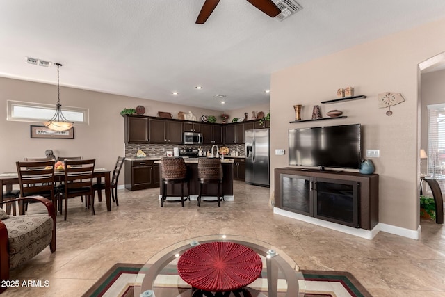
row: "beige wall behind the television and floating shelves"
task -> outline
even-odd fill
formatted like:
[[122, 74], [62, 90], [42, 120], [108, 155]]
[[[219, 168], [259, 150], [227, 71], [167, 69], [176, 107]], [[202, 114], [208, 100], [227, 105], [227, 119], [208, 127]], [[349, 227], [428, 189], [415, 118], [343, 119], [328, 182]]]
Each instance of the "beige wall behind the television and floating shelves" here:
[[[320, 125], [363, 125], [363, 148], [380, 150], [374, 158], [380, 175], [380, 223], [417, 230], [419, 227], [419, 73], [418, 64], [445, 49], [445, 20], [390, 35], [386, 38], [323, 56], [314, 61], [272, 74], [270, 109], [271, 147], [287, 150], [288, 129]], [[336, 90], [355, 88], [366, 99], [321, 104], [335, 99]], [[406, 101], [393, 106], [393, 115], [379, 109], [378, 93], [402, 93]], [[323, 115], [332, 109], [348, 116], [341, 120], [289, 124], [295, 118], [294, 104], [302, 104], [302, 119], [311, 118], [319, 104]], [[271, 157], [271, 168], [287, 166], [288, 156]], [[271, 186], [274, 191], [275, 184]]]

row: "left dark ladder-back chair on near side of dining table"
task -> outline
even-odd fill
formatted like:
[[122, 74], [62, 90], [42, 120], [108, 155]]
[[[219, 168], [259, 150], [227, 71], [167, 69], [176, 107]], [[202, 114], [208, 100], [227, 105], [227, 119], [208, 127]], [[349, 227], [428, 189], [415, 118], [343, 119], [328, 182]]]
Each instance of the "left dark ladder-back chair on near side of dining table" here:
[[[46, 161], [17, 161], [17, 175], [19, 177], [20, 196], [43, 196], [51, 200], [54, 210], [57, 209], [54, 187], [54, 160]], [[19, 214], [24, 214], [28, 203], [19, 203]]]

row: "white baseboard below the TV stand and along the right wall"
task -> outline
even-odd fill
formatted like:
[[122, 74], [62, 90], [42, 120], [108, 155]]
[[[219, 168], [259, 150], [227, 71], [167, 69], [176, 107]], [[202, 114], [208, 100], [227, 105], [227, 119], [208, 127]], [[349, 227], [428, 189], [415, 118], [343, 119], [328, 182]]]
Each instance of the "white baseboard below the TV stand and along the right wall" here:
[[302, 214], [293, 213], [291, 211], [285, 211], [277, 207], [273, 208], [273, 213], [279, 214], [280, 216], [286, 216], [288, 218], [295, 218], [296, 220], [302, 220], [303, 222], [329, 228], [346, 234], [362, 237], [364, 239], [373, 239], [374, 236], [377, 235], [378, 232], [380, 231], [407, 237], [410, 239], [419, 239], [421, 232], [421, 226], [419, 226], [417, 230], [410, 230], [393, 225], [387, 225], [384, 223], [378, 223], [375, 227], [373, 227], [373, 230], [357, 229], [353, 227], [343, 226], [337, 223], [331, 223], [328, 222], [327, 220], [319, 220], [318, 218], [312, 218], [312, 216], [305, 216]]

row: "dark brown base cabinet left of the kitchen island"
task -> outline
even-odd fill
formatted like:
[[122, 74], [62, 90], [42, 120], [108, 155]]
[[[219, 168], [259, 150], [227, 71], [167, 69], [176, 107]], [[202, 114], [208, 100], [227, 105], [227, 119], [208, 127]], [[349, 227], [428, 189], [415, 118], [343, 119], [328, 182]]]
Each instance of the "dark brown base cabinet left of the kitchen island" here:
[[154, 161], [125, 161], [125, 188], [130, 191], [159, 187], [159, 164]]

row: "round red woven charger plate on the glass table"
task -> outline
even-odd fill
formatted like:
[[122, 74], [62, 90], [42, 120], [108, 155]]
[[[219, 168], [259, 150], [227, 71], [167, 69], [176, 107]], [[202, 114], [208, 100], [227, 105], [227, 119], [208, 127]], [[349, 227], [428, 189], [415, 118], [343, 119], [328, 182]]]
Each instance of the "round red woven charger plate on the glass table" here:
[[252, 249], [233, 242], [195, 246], [179, 258], [178, 273], [204, 291], [232, 291], [247, 286], [261, 274], [263, 263]]

